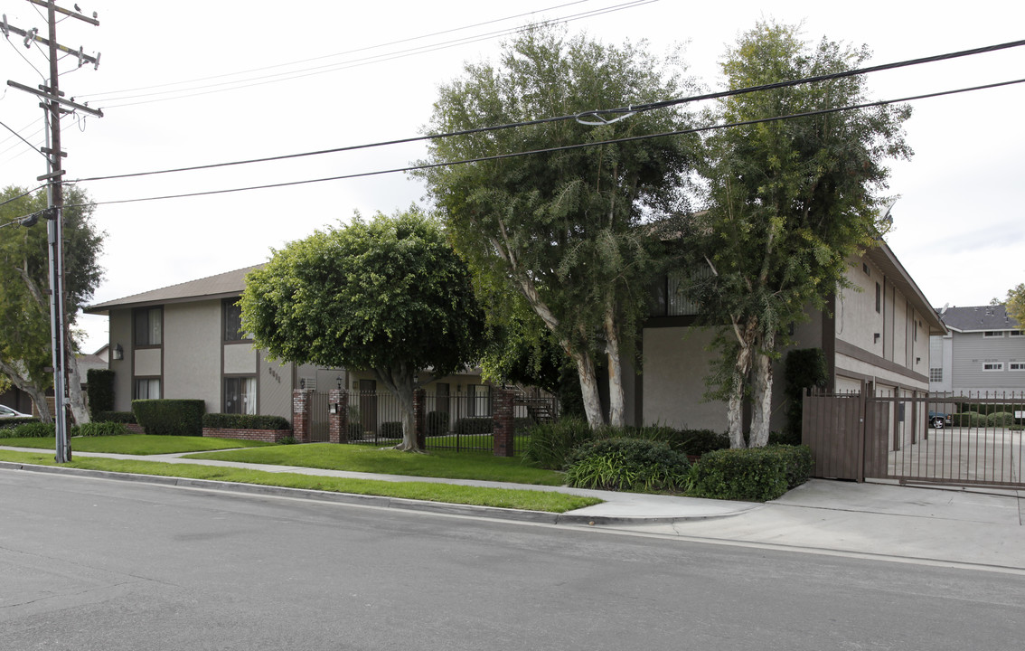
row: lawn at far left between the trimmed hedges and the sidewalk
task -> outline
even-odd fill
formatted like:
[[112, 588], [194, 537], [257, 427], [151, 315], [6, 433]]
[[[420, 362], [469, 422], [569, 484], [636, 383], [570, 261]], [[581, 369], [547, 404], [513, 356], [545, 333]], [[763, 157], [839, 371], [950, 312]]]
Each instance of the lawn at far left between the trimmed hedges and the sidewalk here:
[[[15, 448], [38, 448], [53, 450], [56, 442], [46, 439], [0, 439], [0, 445]], [[129, 434], [117, 437], [75, 437], [71, 440], [74, 452], [108, 452], [111, 454], [172, 454], [174, 452], [201, 452], [229, 448], [254, 448], [273, 446], [263, 441], [237, 441], [207, 437], [157, 437], [146, 434]]]

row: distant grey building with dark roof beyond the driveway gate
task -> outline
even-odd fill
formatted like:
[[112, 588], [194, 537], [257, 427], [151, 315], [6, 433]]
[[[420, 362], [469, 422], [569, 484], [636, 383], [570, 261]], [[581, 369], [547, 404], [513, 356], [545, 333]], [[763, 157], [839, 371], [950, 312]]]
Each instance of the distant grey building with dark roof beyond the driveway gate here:
[[943, 308], [939, 314], [949, 331], [930, 339], [931, 392], [1025, 392], [1025, 330], [1006, 306]]

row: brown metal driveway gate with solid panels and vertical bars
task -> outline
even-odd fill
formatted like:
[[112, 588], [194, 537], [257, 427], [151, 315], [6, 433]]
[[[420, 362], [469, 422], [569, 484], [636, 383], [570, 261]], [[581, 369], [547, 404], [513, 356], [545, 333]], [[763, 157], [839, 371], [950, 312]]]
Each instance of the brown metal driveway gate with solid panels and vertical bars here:
[[817, 477], [1025, 487], [1025, 396], [809, 395], [803, 438]]

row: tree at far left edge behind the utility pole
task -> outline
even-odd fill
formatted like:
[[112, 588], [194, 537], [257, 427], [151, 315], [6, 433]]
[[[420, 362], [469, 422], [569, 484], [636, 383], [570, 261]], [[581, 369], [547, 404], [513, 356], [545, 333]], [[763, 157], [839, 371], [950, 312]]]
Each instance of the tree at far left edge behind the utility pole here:
[[[44, 192], [5, 188], [0, 192], [0, 223], [43, 210], [46, 203]], [[65, 187], [65, 337], [73, 349], [67, 360], [68, 393], [75, 422], [81, 424], [88, 422], [89, 414], [82, 398], [72, 326], [102, 278], [98, 260], [105, 234], [92, 223], [94, 205], [84, 191]], [[45, 222], [40, 218], [36, 226], [0, 231], [0, 390], [13, 385], [29, 394], [42, 419], [49, 422], [46, 390], [53, 386], [53, 376], [46, 369], [53, 362]]]

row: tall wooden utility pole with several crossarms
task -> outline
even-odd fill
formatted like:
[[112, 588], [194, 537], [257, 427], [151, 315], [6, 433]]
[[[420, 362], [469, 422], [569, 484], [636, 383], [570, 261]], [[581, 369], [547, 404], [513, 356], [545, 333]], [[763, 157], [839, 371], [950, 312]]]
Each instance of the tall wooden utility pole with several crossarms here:
[[[60, 149], [60, 115], [71, 113], [64, 107], [72, 107], [74, 110], [81, 110], [92, 115], [102, 117], [102, 112], [89, 109], [86, 106], [75, 104], [63, 98], [60, 92], [59, 71], [57, 67], [57, 51], [78, 56], [78, 65], [81, 67], [86, 62], [99, 66], [99, 55], [88, 56], [79, 48], [77, 51], [57, 43], [56, 14], [78, 18], [85, 23], [98, 26], [96, 14], [92, 17], [85, 16], [78, 11], [71, 11], [56, 6], [54, 0], [28, 0], [33, 4], [46, 7], [46, 21], [48, 24], [49, 38], [39, 36], [38, 30], [32, 29], [23, 31], [7, 25], [7, 16], [3, 16], [0, 24], [0, 31], [9, 38], [9, 32], [25, 37], [25, 46], [31, 47], [32, 41], [37, 41], [48, 47], [49, 73], [48, 85], [39, 86], [39, 90], [33, 89], [13, 81], [7, 80], [7, 85], [31, 92], [43, 98], [40, 107], [44, 112], [44, 123], [46, 127], [46, 146], [42, 152], [46, 155], [46, 173], [37, 177], [37, 180], [46, 181], [47, 210], [47, 242], [49, 249], [49, 280], [50, 280], [50, 347], [53, 359], [53, 417], [56, 430], [56, 461], [67, 463], [71, 461], [71, 438], [68, 432], [68, 409], [67, 409], [67, 383], [68, 383], [68, 356], [74, 352], [69, 348], [68, 341], [68, 316], [65, 313], [65, 269], [64, 269], [64, 166], [61, 158], [68, 154]], [[77, 7], [77, 5], [76, 5]]]

